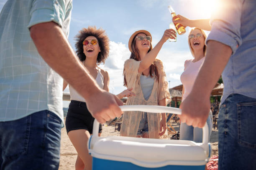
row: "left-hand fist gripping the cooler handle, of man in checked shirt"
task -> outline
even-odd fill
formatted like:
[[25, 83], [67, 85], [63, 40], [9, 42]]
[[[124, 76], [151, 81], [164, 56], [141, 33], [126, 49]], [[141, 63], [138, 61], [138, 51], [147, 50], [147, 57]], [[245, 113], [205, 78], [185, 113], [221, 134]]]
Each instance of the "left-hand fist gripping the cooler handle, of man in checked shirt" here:
[[89, 97], [89, 100], [86, 100], [86, 104], [92, 117], [95, 117], [100, 123], [105, 123], [123, 114], [118, 106], [123, 105], [123, 102], [116, 95], [105, 90], [94, 93]]

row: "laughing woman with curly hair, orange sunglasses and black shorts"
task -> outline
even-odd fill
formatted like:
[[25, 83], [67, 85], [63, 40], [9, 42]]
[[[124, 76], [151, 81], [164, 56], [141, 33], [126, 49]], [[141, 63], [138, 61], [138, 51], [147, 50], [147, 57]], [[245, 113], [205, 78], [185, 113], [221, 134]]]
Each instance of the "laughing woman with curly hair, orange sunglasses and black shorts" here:
[[[105, 30], [96, 27], [83, 28], [76, 36], [76, 53], [79, 60], [95, 79], [97, 84], [104, 90], [109, 91], [109, 75], [97, 65], [105, 63], [109, 54], [109, 39]], [[79, 80], [78, 80], [79, 81]], [[67, 87], [64, 81], [63, 90]], [[92, 157], [88, 153], [86, 143], [92, 134], [94, 117], [86, 106], [86, 101], [72, 86], [69, 85], [71, 102], [66, 117], [66, 129], [69, 139], [77, 150], [76, 170], [91, 170]], [[135, 95], [131, 89], [118, 94], [118, 98]], [[99, 103], [100, 104], [100, 103]], [[99, 135], [102, 133], [100, 124]]]

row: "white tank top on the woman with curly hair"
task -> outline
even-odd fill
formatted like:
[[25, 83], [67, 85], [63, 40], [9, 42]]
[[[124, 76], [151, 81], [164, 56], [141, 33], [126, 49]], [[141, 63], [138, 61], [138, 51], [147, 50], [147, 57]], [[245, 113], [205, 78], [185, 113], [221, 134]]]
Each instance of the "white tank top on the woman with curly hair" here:
[[[97, 84], [100, 86], [100, 88], [103, 89], [104, 87], [104, 77], [103, 75], [101, 74], [100, 72], [100, 68], [97, 67], [97, 77], [96, 77], [96, 82]], [[74, 88], [69, 85], [69, 92], [70, 92], [70, 100], [77, 100], [77, 101], [80, 101], [80, 102], [85, 102], [84, 98], [78, 94], [78, 92], [76, 90], [74, 90]]]

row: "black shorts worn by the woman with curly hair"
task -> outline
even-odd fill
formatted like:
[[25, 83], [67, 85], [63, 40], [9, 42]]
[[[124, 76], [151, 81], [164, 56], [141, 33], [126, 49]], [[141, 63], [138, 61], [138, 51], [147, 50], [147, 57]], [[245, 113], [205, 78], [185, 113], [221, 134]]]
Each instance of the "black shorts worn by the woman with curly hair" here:
[[[67, 133], [71, 130], [85, 129], [92, 134], [93, 121], [91, 113], [87, 109], [85, 102], [71, 100], [69, 110], [66, 117], [66, 130]], [[99, 133], [102, 133], [102, 125], [100, 124]]]

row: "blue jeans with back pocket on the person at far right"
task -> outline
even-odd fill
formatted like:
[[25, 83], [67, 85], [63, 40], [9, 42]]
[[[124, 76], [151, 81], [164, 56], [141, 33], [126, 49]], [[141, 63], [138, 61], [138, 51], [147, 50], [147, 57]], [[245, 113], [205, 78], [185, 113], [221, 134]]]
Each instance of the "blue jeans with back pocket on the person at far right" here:
[[219, 170], [256, 170], [256, 99], [229, 95], [218, 118]]

